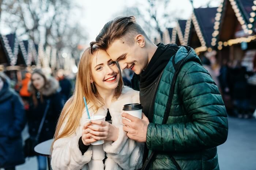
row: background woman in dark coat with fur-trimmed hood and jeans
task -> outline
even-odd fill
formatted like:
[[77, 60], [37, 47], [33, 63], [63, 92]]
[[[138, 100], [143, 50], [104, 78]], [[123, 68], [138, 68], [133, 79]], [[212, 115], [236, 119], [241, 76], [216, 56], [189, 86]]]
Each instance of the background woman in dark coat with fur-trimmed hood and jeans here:
[[[46, 78], [42, 70], [34, 70], [31, 75], [29, 92], [31, 93], [28, 111], [29, 134], [35, 139], [44, 113], [46, 113], [38, 143], [52, 139], [54, 130], [63, 108], [63, 100], [57, 91], [59, 84], [53, 77]], [[46, 158], [38, 155], [38, 170], [46, 170]]]

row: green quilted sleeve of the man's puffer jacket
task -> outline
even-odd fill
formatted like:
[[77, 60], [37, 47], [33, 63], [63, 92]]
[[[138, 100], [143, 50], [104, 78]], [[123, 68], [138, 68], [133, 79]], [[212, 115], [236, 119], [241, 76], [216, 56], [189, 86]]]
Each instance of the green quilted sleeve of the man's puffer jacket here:
[[177, 79], [178, 96], [191, 120], [164, 125], [150, 123], [147, 147], [151, 150], [198, 151], [216, 147], [227, 139], [227, 114], [218, 87], [201, 65], [185, 65]]

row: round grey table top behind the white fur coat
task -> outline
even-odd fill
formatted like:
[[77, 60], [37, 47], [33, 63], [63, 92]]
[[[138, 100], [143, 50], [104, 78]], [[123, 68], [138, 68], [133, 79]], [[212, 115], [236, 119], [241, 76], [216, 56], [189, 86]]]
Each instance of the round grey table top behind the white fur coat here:
[[39, 155], [49, 157], [51, 155], [51, 146], [52, 146], [53, 139], [46, 140], [41, 142], [35, 146], [34, 150]]

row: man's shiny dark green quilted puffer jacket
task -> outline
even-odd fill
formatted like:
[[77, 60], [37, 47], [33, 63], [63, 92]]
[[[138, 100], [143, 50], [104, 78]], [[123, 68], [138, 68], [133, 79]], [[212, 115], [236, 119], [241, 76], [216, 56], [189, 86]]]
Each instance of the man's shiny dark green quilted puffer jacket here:
[[[218, 170], [217, 146], [226, 141], [228, 132], [221, 94], [191, 47], [180, 46], [175, 61], [172, 59], [159, 82], [153, 123], [147, 128], [149, 155], [152, 150], [157, 153], [150, 169], [177, 169], [170, 159], [172, 155], [182, 170]], [[166, 106], [174, 65], [182, 59], [172, 103]], [[167, 124], [162, 125], [166, 107], [170, 107], [169, 117]]]

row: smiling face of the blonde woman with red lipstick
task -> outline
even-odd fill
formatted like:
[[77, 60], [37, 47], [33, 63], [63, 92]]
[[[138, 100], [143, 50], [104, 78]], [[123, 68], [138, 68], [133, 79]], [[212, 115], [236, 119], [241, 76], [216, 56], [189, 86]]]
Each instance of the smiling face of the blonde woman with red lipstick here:
[[116, 89], [120, 80], [119, 69], [105, 50], [94, 52], [91, 63], [91, 83], [94, 82], [97, 90]]

